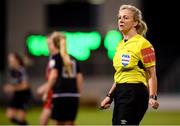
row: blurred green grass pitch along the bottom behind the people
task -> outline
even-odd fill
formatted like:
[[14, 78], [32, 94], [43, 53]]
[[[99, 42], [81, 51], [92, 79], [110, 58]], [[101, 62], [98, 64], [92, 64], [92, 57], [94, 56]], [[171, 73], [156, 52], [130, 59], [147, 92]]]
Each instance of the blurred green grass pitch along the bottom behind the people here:
[[[27, 120], [31, 125], [39, 124], [40, 107], [28, 111]], [[80, 107], [77, 125], [111, 125], [112, 110], [99, 110], [92, 107]], [[5, 109], [0, 108], [0, 125], [11, 124], [5, 117]], [[50, 124], [52, 124], [50, 122]], [[142, 125], [180, 125], [179, 111], [148, 111], [141, 122]]]

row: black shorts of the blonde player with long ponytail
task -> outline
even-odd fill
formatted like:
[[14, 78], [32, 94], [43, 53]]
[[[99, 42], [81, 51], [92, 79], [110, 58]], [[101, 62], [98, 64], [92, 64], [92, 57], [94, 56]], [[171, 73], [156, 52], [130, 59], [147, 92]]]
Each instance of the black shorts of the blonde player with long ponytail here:
[[74, 121], [76, 119], [78, 107], [78, 97], [53, 98], [51, 118], [56, 121]]

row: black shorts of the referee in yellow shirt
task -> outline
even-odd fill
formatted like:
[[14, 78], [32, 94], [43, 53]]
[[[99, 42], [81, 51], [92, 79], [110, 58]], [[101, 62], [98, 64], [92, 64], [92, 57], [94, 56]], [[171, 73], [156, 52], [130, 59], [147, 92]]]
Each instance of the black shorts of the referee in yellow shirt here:
[[113, 125], [139, 125], [148, 108], [148, 100], [149, 93], [144, 84], [117, 84]]

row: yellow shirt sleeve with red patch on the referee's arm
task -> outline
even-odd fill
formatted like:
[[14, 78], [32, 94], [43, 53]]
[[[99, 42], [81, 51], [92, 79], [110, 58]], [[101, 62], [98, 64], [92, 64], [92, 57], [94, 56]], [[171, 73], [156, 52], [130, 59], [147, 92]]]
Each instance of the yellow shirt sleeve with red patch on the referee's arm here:
[[140, 48], [140, 58], [145, 68], [156, 65], [156, 56], [150, 42], [144, 41]]

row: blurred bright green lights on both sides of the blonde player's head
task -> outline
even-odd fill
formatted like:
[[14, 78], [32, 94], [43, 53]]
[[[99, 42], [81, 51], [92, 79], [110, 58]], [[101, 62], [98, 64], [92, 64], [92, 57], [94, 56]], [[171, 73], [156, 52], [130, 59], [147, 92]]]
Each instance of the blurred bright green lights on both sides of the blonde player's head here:
[[[101, 44], [101, 35], [96, 32], [65, 32], [67, 38], [67, 51], [79, 61], [90, 57], [91, 51]], [[33, 56], [48, 56], [49, 51], [46, 36], [30, 35], [26, 39], [27, 49]]]

